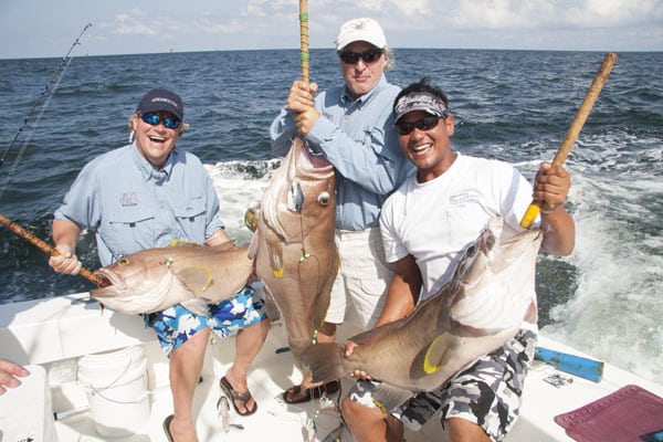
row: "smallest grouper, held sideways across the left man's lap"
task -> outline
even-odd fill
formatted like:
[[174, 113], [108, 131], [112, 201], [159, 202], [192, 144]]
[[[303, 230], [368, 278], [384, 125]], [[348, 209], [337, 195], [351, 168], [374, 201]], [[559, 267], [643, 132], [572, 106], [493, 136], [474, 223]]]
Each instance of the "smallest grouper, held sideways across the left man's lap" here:
[[253, 274], [248, 245], [178, 242], [123, 256], [95, 274], [107, 285], [91, 291], [113, 311], [135, 315], [182, 304], [206, 315], [209, 304], [236, 294]]

